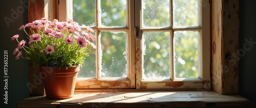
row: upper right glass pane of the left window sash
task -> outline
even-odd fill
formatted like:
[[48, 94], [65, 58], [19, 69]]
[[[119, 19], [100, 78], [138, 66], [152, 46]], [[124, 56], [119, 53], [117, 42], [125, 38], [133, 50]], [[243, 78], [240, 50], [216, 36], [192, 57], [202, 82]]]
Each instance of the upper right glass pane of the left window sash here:
[[126, 26], [126, 0], [101, 0], [101, 25]]

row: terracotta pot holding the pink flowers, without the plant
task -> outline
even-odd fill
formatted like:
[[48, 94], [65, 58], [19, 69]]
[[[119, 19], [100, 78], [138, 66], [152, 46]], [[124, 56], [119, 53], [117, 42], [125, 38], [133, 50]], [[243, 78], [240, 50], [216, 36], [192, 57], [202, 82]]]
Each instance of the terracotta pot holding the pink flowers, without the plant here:
[[40, 66], [47, 98], [66, 99], [74, 95], [79, 66], [69, 67], [44, 67]]

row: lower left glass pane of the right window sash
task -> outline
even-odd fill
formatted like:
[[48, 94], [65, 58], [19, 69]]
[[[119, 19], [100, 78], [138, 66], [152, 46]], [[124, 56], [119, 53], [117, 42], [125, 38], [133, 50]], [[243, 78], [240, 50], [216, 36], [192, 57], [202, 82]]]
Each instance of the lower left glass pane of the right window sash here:
[[169, 32], [143, 33], [143, 79], [170, 78]]

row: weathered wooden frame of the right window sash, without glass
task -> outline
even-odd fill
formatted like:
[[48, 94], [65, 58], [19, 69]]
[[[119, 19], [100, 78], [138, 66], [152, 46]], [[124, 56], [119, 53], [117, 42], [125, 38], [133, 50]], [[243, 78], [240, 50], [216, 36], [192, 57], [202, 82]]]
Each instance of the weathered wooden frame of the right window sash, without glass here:
[[[135, 9], [140, 10], [141, 2], [135, 1]], [[170, 1], [170, 6], [172, 6], [172, 1]], [[136, 39], [136, 89], [205, 89], [210, 90], [210, 4], [208, 1], [199, 1], [200, 20], [199, 26], [189, 27], [189, 28], [174, 28], [172, 26], [173, 15], [170, 14], [170, 28], [143, 28], [141, 24], [142, 14], [140, 11], [135, 11], [135, 26], [139, 27], [139, 39]], [[172, 12], [172, 8], [170, 8]], [[202, 18], [203, 17], [203, 18]], [[172, 37], [174, 31], [201, 31], [200, 34], [200, 67], [199, 67], [199, 77], [198, 78], [174, 78], [174, 62], [171, 62], [171, 77], [165, 80], [143, 80], [142, 72], [142, 50], [141, 50], [141, 37], [142, 32], [150, 31], [166, 31], [170, 32]], [[170, 39], [172, 41], [172, 38]], [[172, 46], [172, 45], [171, 45]], [[171, 47], [170, 57], [173, 57], [173, 47]]]

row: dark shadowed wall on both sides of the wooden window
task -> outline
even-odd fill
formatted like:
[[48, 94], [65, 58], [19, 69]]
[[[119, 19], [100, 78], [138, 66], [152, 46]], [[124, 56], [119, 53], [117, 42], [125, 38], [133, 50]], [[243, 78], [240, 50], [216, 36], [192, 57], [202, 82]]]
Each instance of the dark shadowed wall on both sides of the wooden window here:
[[[1, 1], [0, 14], [0, 32], [1, 32], [1, 86], [0, 98], [1, 107], [15, 107], [15, 104], [23, 98], [29, 96], [29, 90], [26, 86], [28, 82], [28, 61], [24, 59], [15, 60], [12, 55], [14, 48], [17, 47], [17, 42], [11, 41], [13, 35], [19, 34], [19, 39], [26, 39], [26, 34], [23, 31], [18, 31], [20, 25], [27, 23], [27, 1], [25, 5], [19, 3], [20, 0]], [[240, 49], [246, 44], [246, 39], [252, 39], [256, 42], [256, 1], [241, 0], [240, 1]], [[17, 12], [19, 9], [19, 13]], [[23, 10], [24, 9], [24, 12]], [[14, 10], [14, 11], [13, 11]], [[17, 14], [15, 14], [17, 12]], [[4, 18], [12, 19], [7, 25]], [[234, 22], [236, 23], [236, 22]], [[232, 26], [232, 25], [230, 25]], [[28, 40], [27, 40], [28, 41]], [[4, 50], [8, 50], [8, 105], [4, 102]], [[240, 95], [249, 99], [251, 105], [247, 107], [256, 106], [256, 44], [253, 44], [250, 50], [245, 51], [245, 55], [241, 56], [240, 60]]]

